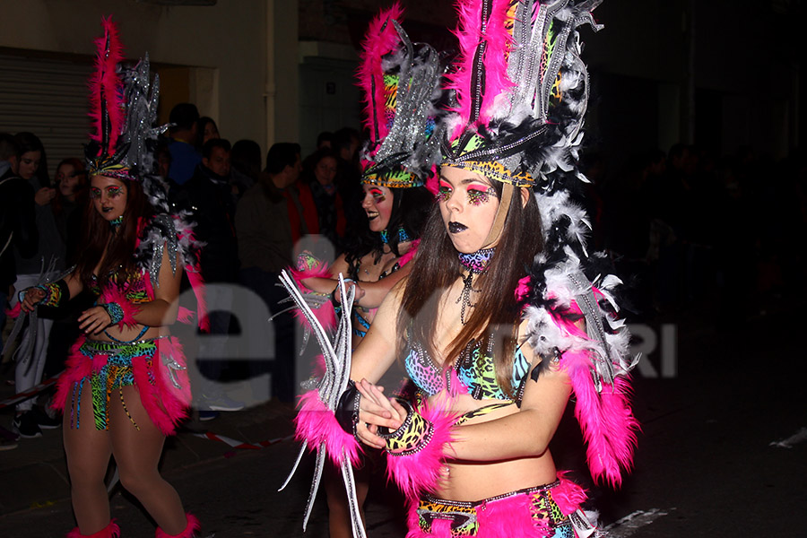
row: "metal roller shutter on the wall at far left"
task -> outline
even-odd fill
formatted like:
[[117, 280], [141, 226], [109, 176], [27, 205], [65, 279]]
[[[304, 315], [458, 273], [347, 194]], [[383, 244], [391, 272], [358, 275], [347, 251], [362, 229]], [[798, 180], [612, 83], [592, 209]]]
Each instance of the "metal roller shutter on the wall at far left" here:
[[0, 52], [0, 131], [39, 136], [51, 181], [59, 161], [83, 159], [91, 71], [89, 58], [71, 61]]

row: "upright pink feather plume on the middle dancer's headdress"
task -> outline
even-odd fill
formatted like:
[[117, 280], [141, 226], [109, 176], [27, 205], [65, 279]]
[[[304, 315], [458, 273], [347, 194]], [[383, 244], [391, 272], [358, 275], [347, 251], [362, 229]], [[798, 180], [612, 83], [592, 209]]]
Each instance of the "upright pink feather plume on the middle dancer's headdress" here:
[[[361, 43], [361, 64], [359, 65], [359, 87], [364, 100], [365, 126], [373, 142], [384, 139], [389, 128], [386, 123], [384, 105], [384, 70], [381, 68], [382, 56], [388, 54], [398, 45], [400, 37], [391, 20], [401, 22], [404, 9], [395, 2], [389, 9], [382, 10], [369, 23], [364, 41]], [[374, 87], [375, 86], [375, 87]], [[376, 138], [377, 128], [377, 138]]]

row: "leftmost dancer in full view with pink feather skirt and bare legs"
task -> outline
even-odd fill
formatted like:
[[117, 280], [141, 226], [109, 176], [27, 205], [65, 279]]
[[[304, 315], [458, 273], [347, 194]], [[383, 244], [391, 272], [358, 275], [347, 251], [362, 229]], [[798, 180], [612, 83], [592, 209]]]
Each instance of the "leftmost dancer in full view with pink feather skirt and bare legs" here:
[[58, 306], [85, 289], [98, 296], [79, 317], [84, 336], [71, 350], [54, 399], [64, 411], [78, 524], [68, 536], [119, 534], [104, 484], [113, 456], [122, 485], [159, 525], [156, 536], [191, 538], [198, 520], [186, 514], [158, 464], [165, 437], [187, 416], [191, 400], [182, 347], [168, 325], [178, 317], [183, 267], [195, 287], [201, 283], [198, 245], [183, 218], [169, 214], [155, 175], [159, 85], [156, 77], [150, 81], [148, 56], [134, 68], [119, 65], [117, 28], [110, 20], [103, 27], [91, 79], [84, 251], [64, 279], [23, 291], [22, 310]]

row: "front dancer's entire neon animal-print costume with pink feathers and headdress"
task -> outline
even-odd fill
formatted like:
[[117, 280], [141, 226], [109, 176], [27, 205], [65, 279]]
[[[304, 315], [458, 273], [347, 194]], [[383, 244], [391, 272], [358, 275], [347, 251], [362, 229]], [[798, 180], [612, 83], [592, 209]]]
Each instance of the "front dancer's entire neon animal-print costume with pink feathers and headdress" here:
[[[442, 145], [444, 166], [468, 169], [503, 185], [493, 239], [483, 247], [495, 246], [494, 230], [505, 225], [510, 201], [514, 193], [521, 193], [516, 188], [532, 189], [542, 219], [528, 224], [541, 237], [543, 247], [513, 292], [521, 307], [519, 322], [526, 326], [522, 344], [531, 346], [534, 356], [542, 360], [539, 366], [519, 372], [520, 383], [537, 382], [548, 368], [568, 375], [590, 471], [598, 482], [619, 485], [631, 464], [638, 429], [629, 406], [628, 377], [636, 360], [627, 357], [629, 334], [615, 317], [612, 289], [619, 281], [606, 276], [593, 283], [586, 276], [596, 273], [591, 269], [599, 260], [586, 249], [586, 213], [570, 202], [570, 193], [585, 180], [577, 172], [577, 151], [588, 78], [579, 56], [577, 29], [585, 23], [597, 28], [590, 13], [597, 4], [595, 0], [463, 2], [457, 30], [460, 56], [449, 83], [455, 102], [445, 121], [447, 136]], [[497, 251], [492, 256], [508, 254]], [[484, 273], [485, 268], [480, 266], [478, 271]], [[473, 282], [473, 277], [467, 281]], [[585, 328], [578, 325], [580, 320]], [[410, 344], [416, 348], [421, 343], [410, 340]], [[386, 438], [391, 477], [412, 501], [410, 536], [596, 534], [580, 508], [585, 495], [568, 482], [536, 486], [535, 490], [550, 492], [537, 499], [532, 489], [502, 492], [473, 503], [431, 497], [451, 454], [447, 445], [457, 427], [469, 419], [450, 412], [456, 396], [496, 394], [488, 368], [491, 353], [473, 345], [469, 351], [472, 364], [465, 368], [463, 358], [457, 358], [452, 364], [458, 367], [438, 372], [445, 377], [431, 376], [425, 368], [417, 372], [423, 383], [420, 388], [437, 391], [438, 397], [416, 396], [405, 404], [408, 412], [403, 425], [381, 435]], [[332, 360], [338, 354], [333, 350], [325, 358]], [[333, 366], [340, 374], [320, 386], [320, 395], [326, 387], [329, 402], [335, 401], [333, 391], [342, 387], [339, 404], [321, 406], [317, 421], [301, 412], [298, 422], [299, 437], [317, 444], [318, 457], [324, 457], [325, 450], [342, 463], [358, 450], [344, 434], [356, 433], [360, 406], [358, 392], [341, 370], [350, 368], [350, 357], [344, 359], [346, 367]], [[475, 371], [474, 361], [483, 363]], [[412, 377], [417, 380], [418, 375]], [[474, 384], [481, 388], [471, 388]], [[517, 404], [519, 395], [512, 400]], [[331, 430], [329, 410], [335, 411], [334, 419], [343, 432]], [[472, 519], [478, 525], [469, 523]], [[508, 519], [526, 524], [508, 525]], [[360, 523], [355, 527], [360, 535]]]

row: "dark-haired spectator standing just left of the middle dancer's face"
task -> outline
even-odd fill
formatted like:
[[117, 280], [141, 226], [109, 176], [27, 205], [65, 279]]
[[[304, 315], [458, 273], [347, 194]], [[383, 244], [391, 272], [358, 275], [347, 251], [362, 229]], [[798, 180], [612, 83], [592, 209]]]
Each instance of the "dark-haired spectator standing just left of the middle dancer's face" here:
[[336, 188], [339, 161], [333, 151], [323, 148], [314, 152], [306, 162], [308, 166], [303, 169], [303, 180], [310, 187], [317, 206], [319, 232], [331, 241], [336, 252], [340, 252], [347, 221], [342, 195]]

